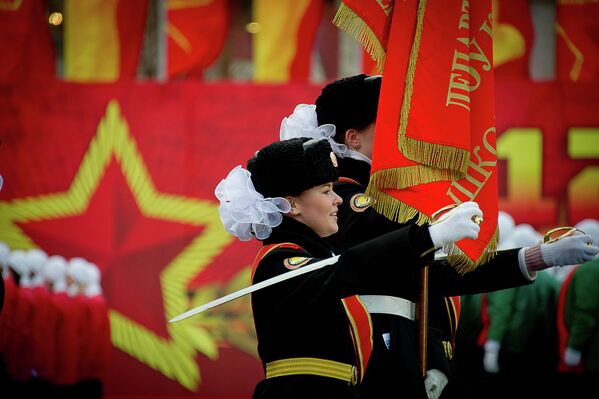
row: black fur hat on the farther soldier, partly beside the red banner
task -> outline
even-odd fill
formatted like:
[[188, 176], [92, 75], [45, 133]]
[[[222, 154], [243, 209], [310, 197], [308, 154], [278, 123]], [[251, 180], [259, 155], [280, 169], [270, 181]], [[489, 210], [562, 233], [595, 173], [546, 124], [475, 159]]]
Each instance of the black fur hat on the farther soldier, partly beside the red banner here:
[[316, 99], [319, 125], [335, 125], [335, 141], [343, 143], [348, 129], [362, 130], [376, 120], [382, 76], [365, 74], [326, 85]]

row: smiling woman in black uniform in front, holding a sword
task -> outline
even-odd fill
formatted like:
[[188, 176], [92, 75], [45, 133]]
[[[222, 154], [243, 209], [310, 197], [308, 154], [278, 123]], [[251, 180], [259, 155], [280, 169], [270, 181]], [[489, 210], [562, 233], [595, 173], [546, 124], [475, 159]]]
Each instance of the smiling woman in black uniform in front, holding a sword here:
[[[331, 263], [252, 294], [266, 374], [254, 398], [361, 398], [356, 385], [372, 349], [372, 324], [356, 294], [394, 292], [432, 261], [431, 236], [455, 242], [480, 230], [472, 217], [482, 212], [466, 203], [435, 225], [393, 229], [339, 252], [324, 239], [338, 230], [337, 178], [328, 142], [297, 138], [262, 148], [247, 170], [234, 168], [215, 190], [227, 231], [264, 243], [254, 284], [323, 259]], [[389, 262], [398, 253], [402, 264]]]

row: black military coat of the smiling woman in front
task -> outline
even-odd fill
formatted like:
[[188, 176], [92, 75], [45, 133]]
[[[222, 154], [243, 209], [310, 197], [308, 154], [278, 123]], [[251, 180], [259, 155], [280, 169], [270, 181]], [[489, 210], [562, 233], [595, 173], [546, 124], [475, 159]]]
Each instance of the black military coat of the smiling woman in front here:
[[[267, 252], [257, 264], [254, 284], [335, 253], [327, 241], [288, 217], [284, 217], [283, 223], [264, 241], [265, 245], [274, 243], [293, 243], [301, 248], [281, 247]], [[254, 292], [252, 311], [263, 364], [303, 357], [359, 364], [360, 356], [356, 355], [342, 299], [362, 292], [391, 290], [394, 282], [408, 273], [406, 270], [420, 269], [426, 263], [420, 255], [431, 246], [426, 228], [409, 226], [344, 250], [330, 266]], [[409, 266], [400, 267], [385, 261], [397, 250], [402, 252]], [[287, 375], [259, 382], [253, 397], [361, 396], [355, 386], [339, 379]]]

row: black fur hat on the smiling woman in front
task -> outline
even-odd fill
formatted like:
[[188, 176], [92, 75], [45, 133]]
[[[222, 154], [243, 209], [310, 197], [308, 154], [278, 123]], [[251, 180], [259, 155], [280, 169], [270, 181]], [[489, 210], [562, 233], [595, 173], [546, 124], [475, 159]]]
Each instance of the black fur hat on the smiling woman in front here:
[[254, 188], [265, 198], [299, 195], [339, 178], [329, 142], [306, 137], [267, 145], [248, 161], [247, 170]]

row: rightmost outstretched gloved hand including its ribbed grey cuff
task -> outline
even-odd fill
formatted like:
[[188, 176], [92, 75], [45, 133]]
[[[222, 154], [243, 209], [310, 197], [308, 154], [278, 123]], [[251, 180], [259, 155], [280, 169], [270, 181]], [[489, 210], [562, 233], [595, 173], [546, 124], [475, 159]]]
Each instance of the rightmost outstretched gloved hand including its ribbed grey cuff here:
[[579, 265], [599, 254], [588, 234], [574, 233], [547, 244], [537, 244], [524, 249], [528, 270], [538, 271], [551, 266]]

